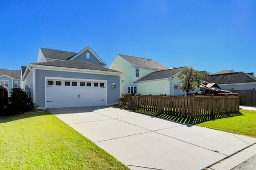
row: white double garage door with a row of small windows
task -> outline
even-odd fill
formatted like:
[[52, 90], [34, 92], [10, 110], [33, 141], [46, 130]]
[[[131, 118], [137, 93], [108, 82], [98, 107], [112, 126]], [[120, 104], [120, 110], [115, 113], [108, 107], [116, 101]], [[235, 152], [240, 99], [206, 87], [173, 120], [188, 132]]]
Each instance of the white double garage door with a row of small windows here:
[[46, 80], [46, 108], [107, 105], [106, 81]]

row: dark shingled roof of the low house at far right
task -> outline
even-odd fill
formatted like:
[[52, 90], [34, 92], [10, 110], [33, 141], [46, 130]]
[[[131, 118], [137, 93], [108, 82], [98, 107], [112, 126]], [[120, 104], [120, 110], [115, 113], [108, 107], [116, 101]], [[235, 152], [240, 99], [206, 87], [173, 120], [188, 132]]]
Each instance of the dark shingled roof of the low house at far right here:
[[249, 83], [256, 82], [256, 77], [244, 72], [229, 72], [225, 74], [209, 75], [207, 82], [217, 84]]

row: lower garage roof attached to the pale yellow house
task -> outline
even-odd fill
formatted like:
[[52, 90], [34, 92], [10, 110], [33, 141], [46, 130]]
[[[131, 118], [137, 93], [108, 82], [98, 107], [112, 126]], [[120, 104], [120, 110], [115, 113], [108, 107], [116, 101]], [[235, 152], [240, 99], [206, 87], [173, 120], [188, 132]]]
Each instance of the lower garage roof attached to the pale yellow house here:
[[141, 79], [137, 80], [136, 82], [162, 79], [162, 78], [170, 78], [170, 77], [174, 76], [175, 74], [177, 74], [182, 68], [183, 67], [151, 72], [150, 74], [142, 77]]

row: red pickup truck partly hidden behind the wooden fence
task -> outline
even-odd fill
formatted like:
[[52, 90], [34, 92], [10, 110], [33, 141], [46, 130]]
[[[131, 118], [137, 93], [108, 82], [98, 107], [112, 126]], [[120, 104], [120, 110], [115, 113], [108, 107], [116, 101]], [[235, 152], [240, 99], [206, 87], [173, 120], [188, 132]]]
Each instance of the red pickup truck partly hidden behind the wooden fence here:
[[223, 95], [238, 95], [237, 93], [232, 93], [228, 90], [220, 90], [220, 89], [217, 89], [217, 88], [206, 88], [204, 90], [199, 90], [198, 92], [196, 93], [189, 93], [188, 95], [217, 95], [217, 96], [223, 96]]

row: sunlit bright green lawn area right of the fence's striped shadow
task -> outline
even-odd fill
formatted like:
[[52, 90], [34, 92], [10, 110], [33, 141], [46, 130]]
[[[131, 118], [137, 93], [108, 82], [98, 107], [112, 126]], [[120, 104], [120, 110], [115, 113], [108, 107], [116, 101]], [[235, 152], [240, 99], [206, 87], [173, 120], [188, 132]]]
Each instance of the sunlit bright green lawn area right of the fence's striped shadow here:
[[199, 123], [198, 126], [230, 133], [256, 137], [256, 111], [240, 110], [240, 116], [227, 117]]

